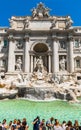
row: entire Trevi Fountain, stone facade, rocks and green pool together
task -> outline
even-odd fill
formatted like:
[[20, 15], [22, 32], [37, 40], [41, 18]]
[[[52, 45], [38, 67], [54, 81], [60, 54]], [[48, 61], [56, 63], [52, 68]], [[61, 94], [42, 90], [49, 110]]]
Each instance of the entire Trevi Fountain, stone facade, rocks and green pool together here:
[[49, 11], [40, 2], [32, 16], [12, 16], [0, 28], [1, 120], [81, 122], [81, 27]]

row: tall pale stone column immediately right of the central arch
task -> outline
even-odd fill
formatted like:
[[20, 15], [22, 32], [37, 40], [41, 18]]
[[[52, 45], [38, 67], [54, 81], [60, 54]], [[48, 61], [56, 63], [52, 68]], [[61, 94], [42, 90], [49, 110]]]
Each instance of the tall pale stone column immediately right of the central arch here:
[[59, 71], [59, 57], [58, 57], [58, 41], [56, 38], [53, 39], [53, 73]]

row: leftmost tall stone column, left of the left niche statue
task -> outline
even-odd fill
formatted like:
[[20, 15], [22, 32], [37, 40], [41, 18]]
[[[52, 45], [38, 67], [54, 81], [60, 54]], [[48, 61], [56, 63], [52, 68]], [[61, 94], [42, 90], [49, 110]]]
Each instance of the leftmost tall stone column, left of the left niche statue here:
[[15, 70], [15, 55], [14, 55], [14, 39], [13, 36], [9, 36], [9, 53], [8, 53], [8, 72], [14, 72]]

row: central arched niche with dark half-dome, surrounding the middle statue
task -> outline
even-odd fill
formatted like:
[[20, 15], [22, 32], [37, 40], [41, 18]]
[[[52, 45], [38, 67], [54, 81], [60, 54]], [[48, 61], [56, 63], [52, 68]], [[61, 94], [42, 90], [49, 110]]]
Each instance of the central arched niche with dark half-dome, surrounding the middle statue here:
[[41, 56], [43, 65], [48, 72], [51, 71], [49, 63], [50, 62], [50, 47], [46, 43], [34, 43], [31, 48], [31, 72], [33, 72], [36, 68], [37, 59]]

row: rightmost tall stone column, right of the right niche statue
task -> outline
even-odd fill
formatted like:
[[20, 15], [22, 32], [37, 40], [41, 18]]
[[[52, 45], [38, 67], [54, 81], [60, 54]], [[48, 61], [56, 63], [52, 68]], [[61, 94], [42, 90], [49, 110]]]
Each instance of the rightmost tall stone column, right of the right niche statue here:
[[70, 38], [68, 45], [68, 68], [70, 73], [74, 72], [73, 43], [73, 38]]

